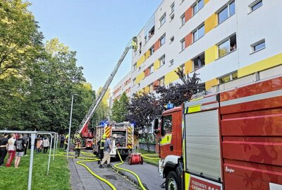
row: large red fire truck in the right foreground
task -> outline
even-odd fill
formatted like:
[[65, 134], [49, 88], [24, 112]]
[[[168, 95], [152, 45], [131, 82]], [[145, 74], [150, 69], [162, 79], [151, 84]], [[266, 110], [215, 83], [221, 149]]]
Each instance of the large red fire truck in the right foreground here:
[[282, 189], [282, 66], [216, 90], [154, 119], [166, 189]]

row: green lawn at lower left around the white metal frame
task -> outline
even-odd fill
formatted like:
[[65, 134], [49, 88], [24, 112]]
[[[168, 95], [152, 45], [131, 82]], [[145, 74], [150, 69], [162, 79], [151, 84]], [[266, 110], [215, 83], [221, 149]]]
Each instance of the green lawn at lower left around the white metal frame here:
[[[0, 167], [1, 189], [27, 189], [28, 170], [30, 165], [30, 152], [27, 157], [20, 160], [18, 169]], [[49, 153], [49, 151], [48, 151]], [[59, 153], [59, 150], [57, 151]], [[47, 176], [48, 154], [35, 153], [32, 172], [32, 189], [71, 190], [70, 170], [68, 161], [63, 157], [51, 157], [49, 175]], [[6, 155], [6, 159], [8, 154]], [[15, 160], [15, 159], [14, 159]], [[4, 162], [6, 164], [6, 160]]]

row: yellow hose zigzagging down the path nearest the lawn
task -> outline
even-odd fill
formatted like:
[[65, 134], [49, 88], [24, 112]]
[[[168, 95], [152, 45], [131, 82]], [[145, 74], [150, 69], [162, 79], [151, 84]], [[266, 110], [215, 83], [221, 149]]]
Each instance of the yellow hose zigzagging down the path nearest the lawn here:
[[[70, 154], [74, 154], [74, 153], [70, 153]], [[82, 152], [82, 155], [87, 155], [88, 153]], [[56, 156], [59, 157], [66, 157], [66, 155], [63, 155], [63, 153], [58, 153], [56, 154]], [[94, 155], [91, 155], [93, 157], [95, 157]], [[74, 156], [68, 156], [68, 158], [75, 158]], [[90, 174], [92, 174], [94, 177], [96, 177], [97, 179], [101, 180], [102, 182], [105, 182], [107, 185], [109, 185], [111, 187], [111, 189], [116, 190], [116, 187], [111, 184], [108, 180], [99, 177], [99, 175], [95, 174], [87, 165], [83, 164], [82, 162], [95, 162], [98, 161], [98, 158], [87, 158], [87, 157], [78, 157], [80, 159], [85, 159], [85, 160], [78, 160], [76, 163], [78, 165], [82, 165], [83, 167], [86, 168], [86, 170], [88, 170], [88, 172], [90, 172]]]

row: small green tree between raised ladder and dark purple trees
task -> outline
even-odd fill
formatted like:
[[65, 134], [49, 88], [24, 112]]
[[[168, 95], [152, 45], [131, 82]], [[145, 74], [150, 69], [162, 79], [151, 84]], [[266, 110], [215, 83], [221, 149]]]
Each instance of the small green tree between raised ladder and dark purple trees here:
[[125, 121], [125, 116], [128, 114], [128, 96], [123, 93], [119, 100], [115, 100], [111, 109], [111, 119], [116, 122]]

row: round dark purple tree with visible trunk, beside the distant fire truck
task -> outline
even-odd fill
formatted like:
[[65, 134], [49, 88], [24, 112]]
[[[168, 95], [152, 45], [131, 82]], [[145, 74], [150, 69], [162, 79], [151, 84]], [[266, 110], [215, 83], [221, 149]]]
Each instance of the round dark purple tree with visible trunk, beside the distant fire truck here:
[[152, 121], [163, 111], [159, 101], [153, 93], [136, 93], [128, 105], [128, 121], [135, 123], [135, 131], [147, 144], [149, 152], [149, 131]]

